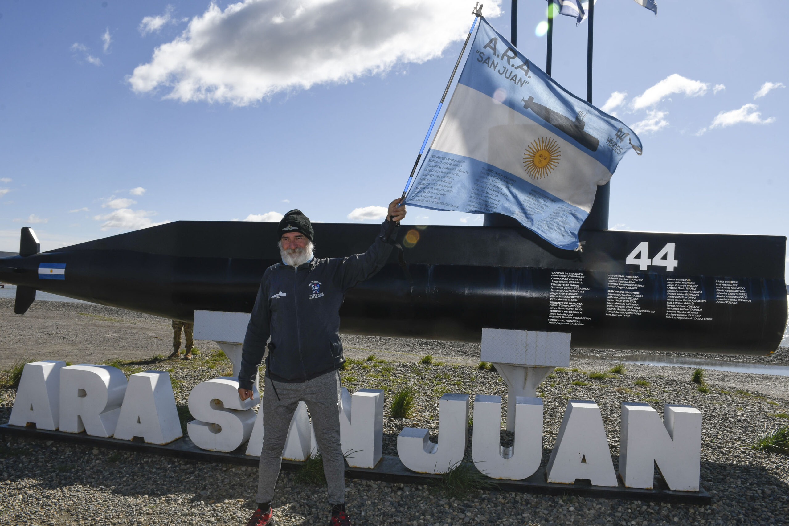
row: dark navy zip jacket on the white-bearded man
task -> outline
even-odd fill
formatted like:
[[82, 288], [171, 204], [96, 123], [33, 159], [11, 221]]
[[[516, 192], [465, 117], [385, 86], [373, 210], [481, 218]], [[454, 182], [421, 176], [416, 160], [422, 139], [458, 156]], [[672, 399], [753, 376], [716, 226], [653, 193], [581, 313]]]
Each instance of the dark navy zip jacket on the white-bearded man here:
[[385, 240], [388, 225], [383, 222], [364, 254], [313, 258], [297, 268], [280, 262], [266, 269], [244, 338], [239, 388], [252, 389], [269, 336], [266, 372], [278, 382], [305, 382], [345, 362], [339, 337], [342, 297], [389, 259], [398, 227]]

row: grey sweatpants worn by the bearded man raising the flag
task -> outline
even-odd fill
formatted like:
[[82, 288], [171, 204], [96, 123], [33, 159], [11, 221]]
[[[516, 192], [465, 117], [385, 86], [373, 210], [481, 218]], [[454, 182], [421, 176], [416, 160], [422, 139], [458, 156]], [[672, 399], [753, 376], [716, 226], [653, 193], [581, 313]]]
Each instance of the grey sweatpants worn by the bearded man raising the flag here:
[[[260, 452], [260, 478], [257, 502], [270, 502], [282, 466], [282, 450], [290, 420], [299, 401], [305, 401], [312, 416], [315, 438], [323, 456], [323, 473], [329, 491], [329, 504], [345, 502], [345, 457], [340, 446], [340, 375], [333, 371], [303, 383], [274, 382], [264, 376], [263, 450]], [[276, 391], [275, 391], [276, 390]], [[279, 398], [278, 398], [279, 396]]]

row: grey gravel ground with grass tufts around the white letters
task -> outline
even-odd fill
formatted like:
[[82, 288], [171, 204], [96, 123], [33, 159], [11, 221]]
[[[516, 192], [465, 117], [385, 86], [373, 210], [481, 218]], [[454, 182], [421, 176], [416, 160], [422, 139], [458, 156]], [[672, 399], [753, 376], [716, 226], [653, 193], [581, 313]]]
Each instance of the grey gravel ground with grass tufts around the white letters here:
[[[7, 316], [6, 307], [10, 304], [0, 300], [0, 319], [6, 329], [0, 334], [3, 364], [13, 362], [6, 356], [9, 349], [19, 356], [31, 356], [31, 349], [47, 349], [43, 356], [74, 363], [122, 358], [122, 363], [114, 364], [127, 375], [168, 370], [176, 403], [184, 414], [193, 386], [230, 371], [230, 363], [214, 350], [212, 342], [199, 342], [203, 350], [192, 361], [151, 359], [169, 351], [171, 334], [168, 321], [154, 316], [95, 305], [36, 302], [36, 310], [9, 323], [13, 315]], [[112, 334], [108, 328], [125, 330], [123, 341], [98, 347], [103, 345], [103, 334]], [[155, 331], [163, 336], [155, 338]], [[58, 338], [65, 343], [59, 344]], [[162, 342], [162, 338], [168, 339]], [[344, 385], [351, 392], [362, 387], [387, 391], [384, 454], [396, 454], [396, 437], [402, 427], [426, 427], [436, 439], [441, 394], [506, 392], [495, 372], [477, 370], [479, 345], [350, 335], [343, 341], [346, 356], [358, 360], [342, 372]], [[111, 354], [115, 350], [118, 355]], [[780, 349], [768, 357], [775, 360], [769, 363], [789, 363], [787, 351]], [[435, 356], [432, 364], [417, 363], [428, 353]], [[571, 357], [572, 368], [556, 371], [540, 386], [545, 406], [543, 461], [547, 461], [570, 399], [593, 399], [600, 404], [615, 464], [622, 401], [647, 401], [659, 412], [664, 403], [694, 405], [704, 415], [701, 484], [712, 494], [712, 505], [496, 491], [472, 491], [465, 498], [447, 499], [435, 487], [349, 479], [347, 503], [353, 523], [789, 524], [789, 457], [750, 448], [765, 427], [789, 423], [778, 416], [789, 413], [789, 377], [706, 371], [710, 392], [702, 393], [690, 382], [691, 370], [686, 367], [627, 364], [625, 375], [593, 380], [589, 371], [606, 371], [623, 356], [617, 351], [593, 353], [600, 359]], [[376, 358], [364, 360], [369, 354]], [[589, 354], [589, 349], [578, 349], [578, 354]], [[735, 361], [765, 363], [759, 360], [739, 356]], [[389, 403], [405, 386], [417, 392], [413, 412], [408, 419], [392, 419]], [[2, 422], [8, 420], [13, 397], [13, 390], [0, 390]], [[505, 445], [508, 440], [511, 437], [503, 432]], [[471, 441], [473, 435], [468, 452]], [[0, 444], [0, 525], [245, 524], [255, 507], [255, 488], [253, 468], [8, 436]], [[297, 483], [292, 472], [280, 476], [274, 505], [279, 524], [325, 524], [327, 520], [325, 490]]]

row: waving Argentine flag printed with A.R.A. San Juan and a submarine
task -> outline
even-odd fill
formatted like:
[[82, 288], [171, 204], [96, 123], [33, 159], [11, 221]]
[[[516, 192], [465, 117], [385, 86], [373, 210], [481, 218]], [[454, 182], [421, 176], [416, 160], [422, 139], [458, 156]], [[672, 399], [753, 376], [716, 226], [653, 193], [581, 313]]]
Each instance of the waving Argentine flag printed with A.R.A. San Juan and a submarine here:
[[466, 65], [406, 204], [510, 215], [559, 248], [597, 186], [641, 141], [540, 71], [481, 18]]

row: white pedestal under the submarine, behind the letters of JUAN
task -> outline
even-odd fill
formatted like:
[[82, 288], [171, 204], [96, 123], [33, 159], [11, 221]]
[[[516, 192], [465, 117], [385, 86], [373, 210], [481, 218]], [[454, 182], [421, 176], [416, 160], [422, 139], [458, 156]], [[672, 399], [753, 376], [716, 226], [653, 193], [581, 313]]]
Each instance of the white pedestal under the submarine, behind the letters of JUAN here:
[[507, 383], [507, 431], [515, 431], [517, 397], [537, 397], [537, 386], [555, 367], [570, 365], [570, 334], [483, 329], [480, 359]]

